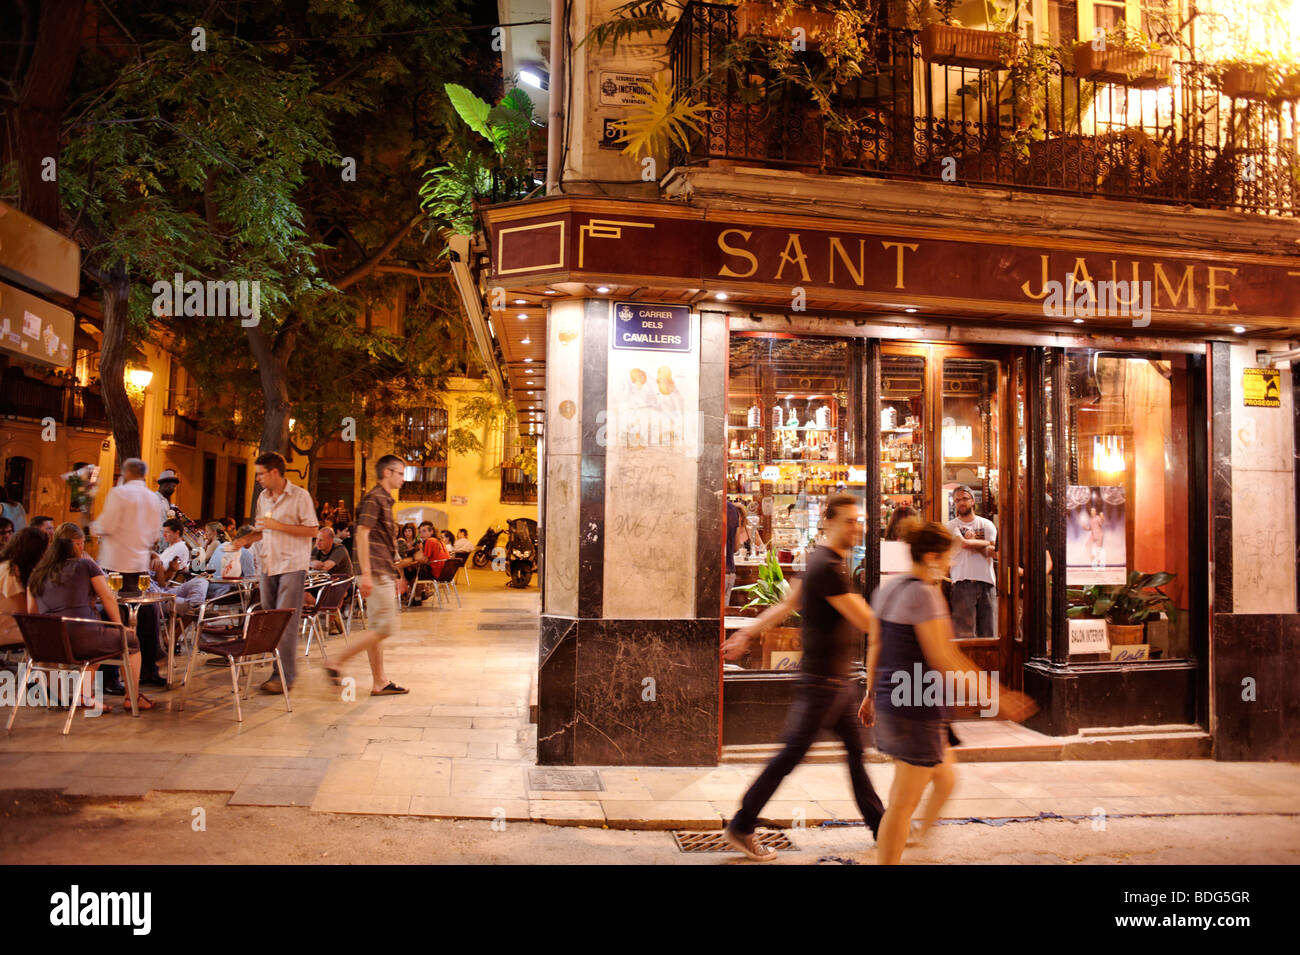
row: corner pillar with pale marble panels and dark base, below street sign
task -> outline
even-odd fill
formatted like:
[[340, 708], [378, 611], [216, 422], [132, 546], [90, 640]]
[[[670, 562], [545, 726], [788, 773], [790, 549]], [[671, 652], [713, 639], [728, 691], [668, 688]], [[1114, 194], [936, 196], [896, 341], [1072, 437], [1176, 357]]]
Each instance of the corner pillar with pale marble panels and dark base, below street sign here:
[[547, 321], [538, 763], [711, 765], [727, 321], [692, 313], [686, 352], [623, 350], [612, 309]]

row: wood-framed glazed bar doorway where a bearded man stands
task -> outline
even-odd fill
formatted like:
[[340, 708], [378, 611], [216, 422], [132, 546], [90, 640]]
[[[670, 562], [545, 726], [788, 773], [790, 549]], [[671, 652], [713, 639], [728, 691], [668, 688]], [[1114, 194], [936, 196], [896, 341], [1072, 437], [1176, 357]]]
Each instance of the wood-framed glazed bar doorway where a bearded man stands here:
[[[879, 578], [906, 573], [906, 517], [958, 538], [944, 582], [958, 647], [1004, 686], [1022, 681], [1023, 361], [998, 346], [881, 344]], [[954, 716], [974, 713], [958, 708]]]

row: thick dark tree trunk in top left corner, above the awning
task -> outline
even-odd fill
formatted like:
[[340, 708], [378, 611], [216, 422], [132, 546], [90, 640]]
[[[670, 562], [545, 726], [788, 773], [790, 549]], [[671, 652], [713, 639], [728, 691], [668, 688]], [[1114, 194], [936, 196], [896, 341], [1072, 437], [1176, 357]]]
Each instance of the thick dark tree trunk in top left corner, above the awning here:
[[[18, 92], [16, 139], [22, 210], [58, 229], [58, 181], [48, 179], [47, 157], [57, 162], [68, 84], [81, 49], [86, 0], [44, 0], [31, 62]], [[53, 168], [57, 177], [58, 168]]]

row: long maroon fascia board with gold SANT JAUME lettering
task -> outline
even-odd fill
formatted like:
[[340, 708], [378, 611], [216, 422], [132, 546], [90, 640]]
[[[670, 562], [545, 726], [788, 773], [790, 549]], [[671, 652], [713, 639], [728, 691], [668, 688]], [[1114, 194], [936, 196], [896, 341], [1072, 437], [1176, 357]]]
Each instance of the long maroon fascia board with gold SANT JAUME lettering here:
[[627, 277], [783, 296], [802, 288], [810, 299], [885, 307], [974, 300], [1043, 314], [1053, 283], [1123, 282], [1122, 295], [1145, 290], [1154, 313], [1208, 324], [1300, 321], [1300, 259], [1148, 255], [1095, 242], [831, 227], [826, 218], [680, 207], [647, 214], [647, 204], [590, 200], [562, 200], [541, 214], [546, 205], [528, 217], [521, 207], [488, 210], [495, 283], [526, 285], [530, 275], [559, 282], [567, 273], [572, 281]]

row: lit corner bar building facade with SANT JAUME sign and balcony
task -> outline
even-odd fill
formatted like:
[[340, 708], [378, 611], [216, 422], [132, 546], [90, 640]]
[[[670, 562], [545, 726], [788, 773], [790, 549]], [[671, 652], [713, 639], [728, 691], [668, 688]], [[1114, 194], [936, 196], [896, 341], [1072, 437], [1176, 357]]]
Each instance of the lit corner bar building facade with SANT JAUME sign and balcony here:
[[[826, 65], [824, 21], [692, 3], [578, 45], [614, 6], [551, 44], [551, 188], [488, 205], [460, 265], [545, 422], [540, 761], [779, 738], [801, 651], [720, 660], [724, 499], [789, 576], [826, 495], [857, 494], [870, 594], [906, 567], [892, 518], [950, 521], [958, 487], [996, 547], [957, 637], [1032, 728], [1295, 759], [1300, 90], [1234, 86], [1204, 35], [1089, 60], [1158, 10], [1080, 0], [1010, 22], [998, 43], [1074, 53], [1036, 61], [881, 9], [818, 101], [790, 77]], [[811, 42], [772, 56], [792, 23]], [[634, 112], [656, 78], [702, 108], [625, 156], [611, 123], [662, 127]]]

